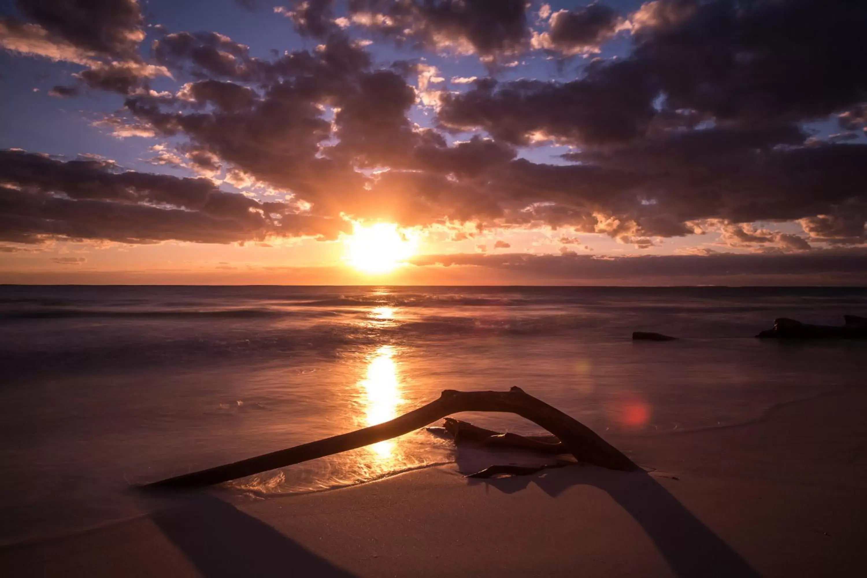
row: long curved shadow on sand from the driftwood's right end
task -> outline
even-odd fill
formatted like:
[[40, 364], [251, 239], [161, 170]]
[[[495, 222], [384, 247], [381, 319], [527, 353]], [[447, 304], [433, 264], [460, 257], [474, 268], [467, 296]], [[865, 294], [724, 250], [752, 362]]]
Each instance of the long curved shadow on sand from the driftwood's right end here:
[[[464, 454], [462, 457], [461, 454]], [[551, 459], [548, 459], [551, 462]], [[492, 461], [487, 452], [487, 464]], [[502, 463], [502, 462], [500, 462]], [[457, 452], [459, 471], [479, 471], [479, 454]], [[610, 471], [595, 466], [568, 466], [541, 471], [531, 476], [469, 479], [470, 484], [488, 484], [507, 494], [536, 484], [551, 497], [557, 497], [573, 485], [585, 484], [604, 490], [629, 513], [668, 562], [679, 578], [737, 577], [759, 578], [752, 568], [712, 529], [687, 510], [677, 498], [648, 473]], [[626, 546], [624, 546], [626, 548]], [[624, 555], [629, 553], [624, 551]]]

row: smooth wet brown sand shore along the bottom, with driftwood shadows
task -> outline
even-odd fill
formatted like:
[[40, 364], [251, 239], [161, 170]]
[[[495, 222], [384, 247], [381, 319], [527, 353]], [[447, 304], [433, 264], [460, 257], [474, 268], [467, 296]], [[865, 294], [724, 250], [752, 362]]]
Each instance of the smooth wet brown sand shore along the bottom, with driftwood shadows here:
[[0, 549], [0, 575], [863, 576], [865, 412], [867, 392], [849, 390], [746, 425], [610, 438], [647, 474], [469, 481], [450, 464], [234, 505], [202, 496]]

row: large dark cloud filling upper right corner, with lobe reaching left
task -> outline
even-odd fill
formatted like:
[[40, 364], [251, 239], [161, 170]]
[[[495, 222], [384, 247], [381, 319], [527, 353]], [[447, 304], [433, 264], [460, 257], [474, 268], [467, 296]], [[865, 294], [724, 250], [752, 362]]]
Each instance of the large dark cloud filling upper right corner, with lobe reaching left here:
[[592, 63], [582, 79], [563, 84], [488, 81], [448, 99], [440, 120], [515, 143], [543, 133], [580, 146], [641, 137], [658, 97], [663, 115], [693, 111], [695, 120], [860, 118], [851, 107], [867, 93], [864, 3], [656, 0], [633, 21], [627, 59]]

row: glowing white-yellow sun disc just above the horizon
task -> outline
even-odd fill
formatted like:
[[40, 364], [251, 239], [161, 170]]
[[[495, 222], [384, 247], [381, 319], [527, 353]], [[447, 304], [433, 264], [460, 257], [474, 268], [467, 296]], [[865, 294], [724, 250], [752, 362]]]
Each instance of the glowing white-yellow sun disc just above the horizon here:
[[355, 224], [355, 230], [346, 237], [345, 243], [349, 264], [370, 274], [393, 271], [415, 252], [413, 240], [391, 223]]

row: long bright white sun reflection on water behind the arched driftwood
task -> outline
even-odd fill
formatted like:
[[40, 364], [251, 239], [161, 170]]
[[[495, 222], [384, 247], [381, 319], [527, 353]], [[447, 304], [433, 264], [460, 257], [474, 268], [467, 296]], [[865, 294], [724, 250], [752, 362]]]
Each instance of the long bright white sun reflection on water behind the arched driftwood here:
[[[360, 382], [365, 393], [365, 425], [381, 424], [397, 417], [401, 405], [401, 382], [398, 378], [397, 364], [394, 362], [393, 346], [377, 347], [368, 361], [368, 370]], [[394, 453], [394, 439], [387, 439], [370, 445], [377, 458], [389, 459]]]

